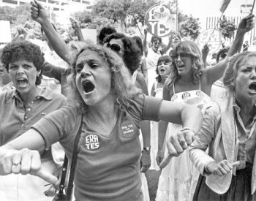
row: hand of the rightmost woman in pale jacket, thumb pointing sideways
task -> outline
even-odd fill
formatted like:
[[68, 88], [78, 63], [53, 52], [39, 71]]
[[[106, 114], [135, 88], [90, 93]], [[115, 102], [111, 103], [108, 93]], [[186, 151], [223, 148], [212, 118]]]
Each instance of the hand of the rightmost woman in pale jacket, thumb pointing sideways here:
[[237, 167], [239, 164], [240, 162], [230, 164], [230, 162], [227, 160], [222, 160], [221, 162], [211, 162], [206, 166], [206, 172], [223, 176], [233, 170], [233, 167]]

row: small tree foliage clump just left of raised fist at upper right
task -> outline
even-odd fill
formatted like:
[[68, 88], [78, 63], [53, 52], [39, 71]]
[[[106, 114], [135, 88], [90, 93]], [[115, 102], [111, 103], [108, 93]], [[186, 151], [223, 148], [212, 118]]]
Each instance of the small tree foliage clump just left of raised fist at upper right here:
[[231, 20], [227, 20], [224, 15], [223, 18], [219, 20], [219, 31], [222, 33], [225, 39], [230, 39], [234, 37], [236, 31], [236, 24]]

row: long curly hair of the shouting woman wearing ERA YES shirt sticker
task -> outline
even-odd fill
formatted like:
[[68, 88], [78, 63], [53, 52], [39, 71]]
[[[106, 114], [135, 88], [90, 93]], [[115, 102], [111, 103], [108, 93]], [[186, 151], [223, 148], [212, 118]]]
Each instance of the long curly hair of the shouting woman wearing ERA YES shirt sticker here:
[[86, 113], [86, 111], [88, 111], [88, 105], [86, 105], [82, 96], [80, 96], [75, 82], [77, 75], [75, 71], [76, 61], [84, 50], [91, 50], [98, 53], [99, 56], [101, 56], [108, 64], [111, 71], [111, 91], [113, 95], [116, 96], [116, 105], [118, 105], [121, 110], [126, 110], [127, 107], [129, 107], [128, 100], [132, 99], [132, 97], [137, 94], [141, 94], [141, 91], [134, 84], [132, 84], [129, 70], [127, 67], [125, 67], [124, 61], [122, 61], [120, 56], [109, 48], [105, 48], [100, 45], [86, 45], [76, 56], [74, 56], [74, 58], [72, 58], [72, 72], [68, 77], [69, 104], [74, 105], [78, 111], [81, 111], [82, 113]]

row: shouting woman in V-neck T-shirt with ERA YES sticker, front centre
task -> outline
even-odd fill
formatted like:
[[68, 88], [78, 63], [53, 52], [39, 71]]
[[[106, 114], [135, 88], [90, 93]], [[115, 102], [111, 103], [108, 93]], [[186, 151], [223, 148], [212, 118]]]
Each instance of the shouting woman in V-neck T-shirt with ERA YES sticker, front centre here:
[[57, 178], [40, 168], [37, 151], [59, 140], [70, 159], [81, 126], [75, 199], [142, 201], [140, 121], [162, 119], [190, 127], [193, 132], [177, 135], [175, 146], [178, 137], [186, 136], [187, 143], [192, 143], [193, 133], [200, 129], [197, 107], [140, 94], [124, 62], [109, 48], [82, 48], [73, 61], [69, 84], [75, 96], [67, 107], [45, 116], [0, 148], [0, 175], [30, 173], [56, 183]]

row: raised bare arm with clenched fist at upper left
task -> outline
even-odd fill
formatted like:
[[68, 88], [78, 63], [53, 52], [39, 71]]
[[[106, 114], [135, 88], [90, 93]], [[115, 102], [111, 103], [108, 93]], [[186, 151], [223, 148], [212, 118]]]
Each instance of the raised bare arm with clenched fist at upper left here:
[[53, 50], [64, 60], [69, 62], [69, 49], [67, 48], [66, 43], [59, 36], [58, 32], [53, 29], [53, 26], [50, 23], [50, 20], [47, 17], [47, 12], [45, 7], [39, 3], [39, 1], [31, 1], [31, 18], [37, 21], [42, 29], [45, 31], [45, 35], [50, 41], [50, 44], [53, 46]]

